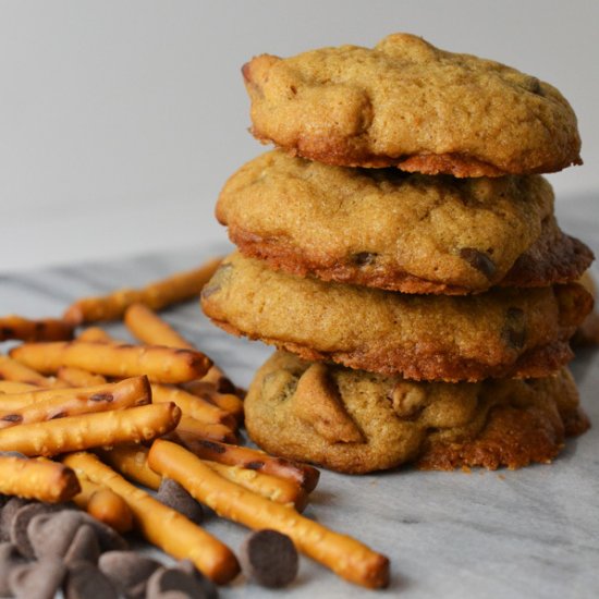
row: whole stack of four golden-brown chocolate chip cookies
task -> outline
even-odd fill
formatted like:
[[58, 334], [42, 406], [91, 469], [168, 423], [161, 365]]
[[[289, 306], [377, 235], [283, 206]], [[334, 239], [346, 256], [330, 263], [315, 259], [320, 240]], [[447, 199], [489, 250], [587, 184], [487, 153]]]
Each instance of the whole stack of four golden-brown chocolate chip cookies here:
[[241, 253], [201, 303], [279, 349], [252, 439], [347, 473], [551, 461], [588, 427], [565, 364], [592, 255], [537, 174], [580, 162], [566, 100], [406, 34], [243, 73], [253, 133], [280, 149], [224, 186]]

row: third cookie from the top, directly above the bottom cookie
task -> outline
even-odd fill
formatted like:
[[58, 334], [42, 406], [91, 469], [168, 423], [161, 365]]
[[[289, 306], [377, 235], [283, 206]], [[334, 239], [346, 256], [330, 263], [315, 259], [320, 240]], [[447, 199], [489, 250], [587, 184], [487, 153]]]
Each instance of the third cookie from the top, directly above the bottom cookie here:
[[541, 377], [567, 363], [592, 300], [577, 283], [478, 295], [407, 295], [301, 279], [233, 254], [201, 306], [233, 334], [305, 359], [415, 380]]

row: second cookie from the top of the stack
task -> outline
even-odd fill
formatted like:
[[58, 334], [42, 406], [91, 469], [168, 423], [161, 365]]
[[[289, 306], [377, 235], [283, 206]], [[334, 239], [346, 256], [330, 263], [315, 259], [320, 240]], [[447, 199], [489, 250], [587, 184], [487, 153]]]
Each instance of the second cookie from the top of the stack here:
[[286, 272], [403, 293], [575, 281], [592, 253], [553, 217], [539, 175], [454, 179], [267, 152], [225, 184], [217, 218]]

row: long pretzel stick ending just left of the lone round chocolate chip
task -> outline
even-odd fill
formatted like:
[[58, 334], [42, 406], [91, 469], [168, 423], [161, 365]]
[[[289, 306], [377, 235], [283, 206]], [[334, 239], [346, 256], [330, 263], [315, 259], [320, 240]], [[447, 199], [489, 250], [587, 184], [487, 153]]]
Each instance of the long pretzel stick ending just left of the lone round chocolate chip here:
[[240, 566], [232, 551], [182, 514], [167, 508], [142, 489], [127, 482], [89, 453], [68, 455], [64, 463], [90, 480], [120, 494], [133, 512], [144, 537], [170, 555], [188, 559], [218, 584], [232, 580]]

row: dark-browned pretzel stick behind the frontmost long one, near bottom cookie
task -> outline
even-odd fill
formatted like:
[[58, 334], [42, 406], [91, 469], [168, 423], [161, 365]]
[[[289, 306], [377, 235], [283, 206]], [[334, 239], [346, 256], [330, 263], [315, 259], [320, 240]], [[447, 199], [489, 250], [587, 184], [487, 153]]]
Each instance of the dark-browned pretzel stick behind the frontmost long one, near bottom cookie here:
[[264, 451], [209, 440], [182, 441], [185, 448], [203, 460], [286, 478], [295, 481], [308, 493], [314, 491], [320, 476], [320, 472], [313, 466], [274, 457]]

